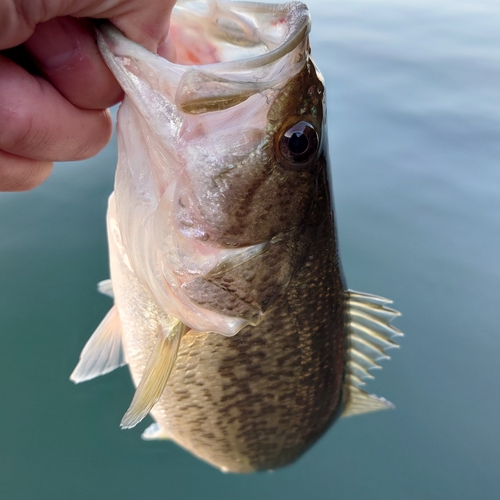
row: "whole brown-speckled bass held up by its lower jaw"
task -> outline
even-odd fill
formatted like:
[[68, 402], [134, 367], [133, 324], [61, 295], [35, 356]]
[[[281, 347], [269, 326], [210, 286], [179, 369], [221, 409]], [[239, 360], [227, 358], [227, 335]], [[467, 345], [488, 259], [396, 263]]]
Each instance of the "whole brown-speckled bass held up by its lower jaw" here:
[[71, 380], [127, 364], [121, 427], [150, 415], [144, 439], [224, 472], [286, 466], [339, 417], [393, 407], [363, 386], [399, 313], [345, 284], [310, 26], [299, 2], [180, 0], [172, 61], [97, 29], [125, 93], [98, 286], [114, 305]]

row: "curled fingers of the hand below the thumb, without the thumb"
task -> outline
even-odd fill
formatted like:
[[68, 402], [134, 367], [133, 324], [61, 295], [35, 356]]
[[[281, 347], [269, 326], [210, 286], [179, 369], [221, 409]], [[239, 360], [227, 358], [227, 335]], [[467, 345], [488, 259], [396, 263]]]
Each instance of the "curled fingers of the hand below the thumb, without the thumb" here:
[[100, 151], [112, 127], [102, 109], [122, 97], [88, 21], [58, 18], [38, 25], [13, 52], [32, 71], [27, 52], [46, 80], [0, 56], [0, 191], [32, 189], [50, 175], [52, 161]]

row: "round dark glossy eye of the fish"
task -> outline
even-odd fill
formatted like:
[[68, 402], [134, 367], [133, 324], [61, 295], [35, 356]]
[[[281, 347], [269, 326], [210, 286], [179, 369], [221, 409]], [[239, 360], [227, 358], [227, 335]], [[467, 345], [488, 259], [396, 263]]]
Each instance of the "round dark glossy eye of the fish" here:
[[308, 166], [319, 148], [316, 129], [306, 121], [300, 121], [288, 128], [278, 140], [279, 157], [293, 169]]

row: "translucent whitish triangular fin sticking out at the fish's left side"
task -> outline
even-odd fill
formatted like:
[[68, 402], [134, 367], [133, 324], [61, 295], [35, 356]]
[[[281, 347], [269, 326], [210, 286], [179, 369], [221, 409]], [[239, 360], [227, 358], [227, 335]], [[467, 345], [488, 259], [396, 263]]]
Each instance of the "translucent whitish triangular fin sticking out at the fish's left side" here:
[[79, 384], [125, 364], [120, 316], [113, 306], [85, 344], [70, 380]]

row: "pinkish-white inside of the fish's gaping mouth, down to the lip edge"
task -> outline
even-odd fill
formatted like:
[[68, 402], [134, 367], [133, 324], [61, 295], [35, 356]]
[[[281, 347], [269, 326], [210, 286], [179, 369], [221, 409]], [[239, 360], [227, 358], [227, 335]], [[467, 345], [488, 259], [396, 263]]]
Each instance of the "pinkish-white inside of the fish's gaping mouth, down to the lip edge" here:
[[[301, 2], [179, 0], [170, 19], [168, 40], [172, 49], [168, 52], [176, 56], [168, 62], [217, 72], [253, 70], [292, 52], [306, 38], [310, 27], [309, 10]], [[115, 56], [130, 57], [135, 53], [143, 58], [147, 53], [166, 60], [131, 41], [127, 50], [122, 43], [124, 35], [111, 23], [98, 22], [96, 30]]]

